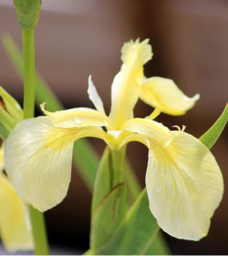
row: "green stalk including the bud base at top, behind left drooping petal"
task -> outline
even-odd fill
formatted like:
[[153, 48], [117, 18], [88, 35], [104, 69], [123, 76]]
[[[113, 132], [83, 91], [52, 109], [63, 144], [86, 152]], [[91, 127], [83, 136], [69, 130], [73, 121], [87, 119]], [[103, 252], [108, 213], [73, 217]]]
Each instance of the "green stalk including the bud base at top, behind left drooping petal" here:
[[[34, 117], [35, 110], [35, 27], [41, 8], [41, 1], [15, 0], [18, 21], [22, 27], [24, 59], [24, 119]], [[43, 213], [28, 206], [32, 225], [35, 253], [49, 254], [47, 232]]]

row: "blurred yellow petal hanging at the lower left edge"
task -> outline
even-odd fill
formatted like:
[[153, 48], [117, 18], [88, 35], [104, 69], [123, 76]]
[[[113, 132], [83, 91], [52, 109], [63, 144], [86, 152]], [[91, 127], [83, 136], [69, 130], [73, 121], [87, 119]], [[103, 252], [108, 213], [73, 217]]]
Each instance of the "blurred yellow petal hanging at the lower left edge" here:
[[0, 233], [7, 251], [33, 250], [26, 207], [6, 176], [0, 173]]

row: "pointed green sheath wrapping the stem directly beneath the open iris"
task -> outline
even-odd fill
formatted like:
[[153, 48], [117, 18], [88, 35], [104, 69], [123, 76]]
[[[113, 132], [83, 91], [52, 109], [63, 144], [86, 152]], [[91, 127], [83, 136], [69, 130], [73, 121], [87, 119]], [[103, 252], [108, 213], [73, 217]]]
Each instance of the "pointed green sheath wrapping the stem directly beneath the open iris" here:
[[[96, 250], [104, 244], [127, 212], [126, 187], [123, 182], [113, 185], [113, 161], [107, 147], [96, 177], [90, 231], [90, 248]], [[115, 163], [117, 164], [117, 163]], [[115, 172], [116, 174], [116, 172]], [[114, 175], [115, 175], [114, 174]]]

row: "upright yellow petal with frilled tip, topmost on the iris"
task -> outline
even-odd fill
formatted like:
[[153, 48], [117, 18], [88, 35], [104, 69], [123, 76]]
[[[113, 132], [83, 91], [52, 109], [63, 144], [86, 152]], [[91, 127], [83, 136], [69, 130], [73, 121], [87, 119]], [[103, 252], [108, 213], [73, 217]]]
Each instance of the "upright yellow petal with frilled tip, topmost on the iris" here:
[[110, 118], [115, 123], [115, 130], [132, 117], [133, 108], [139, 99], [143, 65], [151, 59], [151, 47], [148, 39], [140, 43], [132, 40], [125, 43], [122, 53], [122, 67], [113, 80], [111, 86], [111, 112]]

